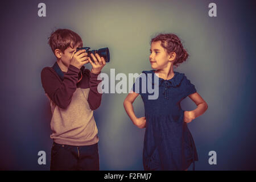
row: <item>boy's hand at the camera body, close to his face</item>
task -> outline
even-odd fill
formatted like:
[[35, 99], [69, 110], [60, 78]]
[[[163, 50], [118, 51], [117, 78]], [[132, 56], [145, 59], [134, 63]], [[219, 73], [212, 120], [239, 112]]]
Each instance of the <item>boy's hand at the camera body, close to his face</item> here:
[[76, 68], [81, 68], [82, 65], [89, 63], [88, 53], [84, 49], [74, 52], [71, 56], [70, 64]]

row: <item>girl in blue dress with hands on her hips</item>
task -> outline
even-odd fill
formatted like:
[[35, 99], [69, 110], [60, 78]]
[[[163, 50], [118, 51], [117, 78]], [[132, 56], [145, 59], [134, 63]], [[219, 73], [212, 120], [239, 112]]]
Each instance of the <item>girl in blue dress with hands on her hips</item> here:
[[[193, 163], [195, 170], [197, 151], [187, 123], [203, 114], [208, 105], [184, 73], [173, 70], [174, 65], [183, 63], [188, 57], [180, 39], [174, 34], [159, 34], [150, 44], [152, 70], [142, 72], [123, 102], [134, 125], [141, 129], [146, 127], [143, 167], [145, 170], [186, 170]], [[156, 100], [149, 100], [148, 92], [137, 93], [135, 85], [142, 85], [142, 76], [157, 76], [159, 96]], [[148, 84], [155, 85], [154, 78], [146, 79]], [[141, 118], [137, 118], [133, 110], [133, 102], [139, 94], [145, 112], [145, 117]], [[187, 96], [197, 105], [195, 110], [181, 109], [180, 102]]]

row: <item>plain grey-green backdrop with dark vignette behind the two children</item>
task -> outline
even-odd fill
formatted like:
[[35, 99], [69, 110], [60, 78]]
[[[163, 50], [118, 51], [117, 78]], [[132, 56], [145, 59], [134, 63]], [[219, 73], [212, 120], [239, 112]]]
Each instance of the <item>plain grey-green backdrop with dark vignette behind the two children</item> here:
[[[46, 17], [38, 16], [40, 2], [46, 3]], [[217, 17], [208, 16], [211, 2], [217, 4]], [[77, 32], [84, 46], [109, 47], [111, 61], [102, 70], [109, 75], [110, 68], [126, 75], [150, 70], [150, 39], [159, 32], [178, 35], [189, 58], [175, 71], [185, 73], [209, 106], [188, 124], [199, 154], [196, 169], [256, 169], [253, 12], [253, 1], [2, 3], [0, 169], [49, 169], [51, 109], [40, 72], [56, 61], [47, 44], [56, 28]], [[126, 95], [104, 94], [94, 112], [102, 170], [143, 170], [144, 129], [125, 113]], [[189, 98], [181, 104], [196, 108]], [[134, 109], [143, 116], [140, 97]], [[46, 151], [46, 165], [38, 164], [40, 150]], [[212, 150], [217, 165], [208, 163]]]

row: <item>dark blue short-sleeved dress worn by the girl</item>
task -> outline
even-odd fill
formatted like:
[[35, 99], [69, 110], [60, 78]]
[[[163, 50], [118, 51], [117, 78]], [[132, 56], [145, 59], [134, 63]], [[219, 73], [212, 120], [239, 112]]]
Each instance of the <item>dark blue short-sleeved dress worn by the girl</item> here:
[[[156, 76], [154, 70], [143, 71], [133, 85], [133, 91], [141, 94], [146, 117], [144, 170], [185, 170], [191, 163], [195, 170], [197, 151], [187, 123], [183, 121], [180, 102], [196, 89], [184, 73], [174, 73], [170, 80], [164, 80]], [[149, 99], [154, 95], [150, 88], [157, 87], [158, 98]]]

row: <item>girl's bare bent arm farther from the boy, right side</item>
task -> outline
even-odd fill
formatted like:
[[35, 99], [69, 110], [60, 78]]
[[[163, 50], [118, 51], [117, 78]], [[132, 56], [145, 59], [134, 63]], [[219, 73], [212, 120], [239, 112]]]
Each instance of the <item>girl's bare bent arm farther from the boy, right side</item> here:
[[184, 121], [187, 123], [204, 114], [204, 112], [208, 109], [207, 102], [203, 100], [199, 93], [193, 93], [188, 97], [191, 98], [193, 102], [195, 102], [197, 108], [191, 111], [184, 111]]

